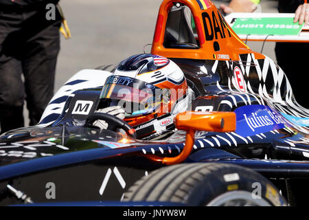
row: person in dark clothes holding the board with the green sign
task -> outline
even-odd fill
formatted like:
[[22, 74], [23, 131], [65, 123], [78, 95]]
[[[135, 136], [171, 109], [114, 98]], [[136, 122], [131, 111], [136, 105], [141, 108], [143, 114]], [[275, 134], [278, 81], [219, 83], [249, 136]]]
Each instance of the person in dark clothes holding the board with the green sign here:
[[[220, 5], [220, 10], [226, 14], [232, 12], [253, 12], [258, 7], [260, 0], [232, 0], [229, 5]], [[309, 4], [305, 0], [279, 0], [278, 10], [280, 13], [295, 13], [294, 22], [299, 25], [304, 23], [306, 27], [309, 23]], [[308, 98], [304, 97], [308, 93], [308, 80], [306, 74], [308, 70], [309, 43], [276, 43], [275, 54], [277, 64], [288, 76], [293, 94], [301, 106], [309, 109]], [[302, 97], [301, 97], [302, 96]]]

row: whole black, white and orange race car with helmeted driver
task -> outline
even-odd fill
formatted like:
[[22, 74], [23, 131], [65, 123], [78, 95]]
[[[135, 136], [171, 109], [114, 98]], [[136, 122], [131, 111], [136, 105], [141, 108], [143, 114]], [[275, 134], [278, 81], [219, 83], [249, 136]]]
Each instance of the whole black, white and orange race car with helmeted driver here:
[[302, 205], [308, 117], [214, 3], [164, 0], [151, 54], [78, 72], [1, 135], [0, 204]]

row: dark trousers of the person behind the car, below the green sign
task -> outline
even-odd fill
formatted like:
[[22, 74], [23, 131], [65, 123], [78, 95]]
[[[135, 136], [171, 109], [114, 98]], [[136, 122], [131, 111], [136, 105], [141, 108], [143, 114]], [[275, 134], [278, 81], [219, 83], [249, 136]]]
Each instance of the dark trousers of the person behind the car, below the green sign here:
[[282, 68], [293, 89], [295, 100], [309, 109], [308, 80], [309, 43], [276, 43], [277, 64]]

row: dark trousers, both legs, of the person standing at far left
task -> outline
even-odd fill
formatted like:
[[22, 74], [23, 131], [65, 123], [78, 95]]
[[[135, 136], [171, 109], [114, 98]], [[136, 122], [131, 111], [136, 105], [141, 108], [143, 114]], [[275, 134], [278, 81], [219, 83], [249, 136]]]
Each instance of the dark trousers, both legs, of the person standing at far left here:
[[24, 100], [30, 125], [37, 124], [54, 94], [61, 18], [57, 11], [56, 21], [47, 21], [46, 12], [45, 5], [0, 5], [1, 133], [24, 126]]

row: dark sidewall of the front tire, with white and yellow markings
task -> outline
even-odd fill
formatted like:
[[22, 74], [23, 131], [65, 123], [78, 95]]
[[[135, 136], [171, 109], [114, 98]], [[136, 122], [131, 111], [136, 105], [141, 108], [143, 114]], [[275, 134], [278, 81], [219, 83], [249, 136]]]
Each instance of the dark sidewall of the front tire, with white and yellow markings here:
[[[229, 176], [235, 177], [235, 180], [227, 178]], [[285, 199], [270, 181], [253, 170], [239, 166], [221, 168], [205, 175], [203, 181], [192, 188], [185, 203], [193, 206], [207, 206], [220, 195], [237, 190], [251, 193], [253, 201], [264, 199], [271, 206], [286, 206]]]

